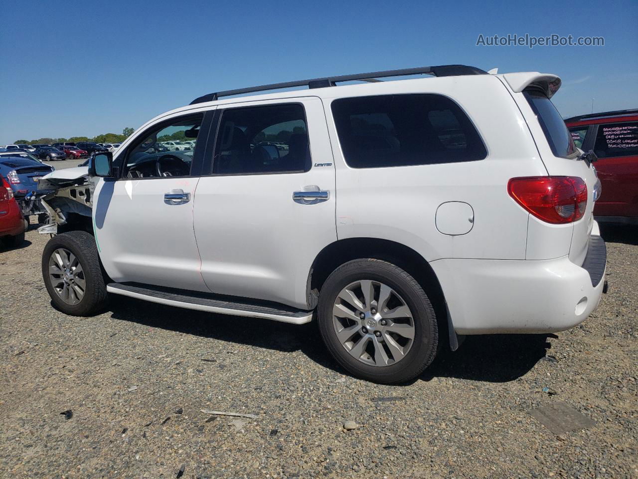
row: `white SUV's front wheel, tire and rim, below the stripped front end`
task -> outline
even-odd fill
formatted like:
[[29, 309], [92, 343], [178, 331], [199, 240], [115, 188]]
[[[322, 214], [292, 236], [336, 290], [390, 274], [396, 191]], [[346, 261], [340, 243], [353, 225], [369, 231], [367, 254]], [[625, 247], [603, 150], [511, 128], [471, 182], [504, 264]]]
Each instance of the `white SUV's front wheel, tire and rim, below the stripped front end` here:
[[[64, 252], [70, 252], [75, 256], [77, 263], [82, 268], [81, 273], [77, 273], [75, 278], [71, 278], [75, 283], [68, 284], [64, 280], [64, 274], [56, 275], [56, 282], [54, 282], [54, 277], [51, 274], [53, 270], [50, 269], [50, 262], [54, 262], [56, 265], [62, 264], [64, 268], [59, 266], [57, 268], [61, 273], [65, 269], [71, 273], [79, 271], [77, 266], [73, 270], [73, 261]], [[54, 254], [59, 255], [59, 258], [54, 257]], [[70, 266], [70, 268], [66, 268], [66, 266]], [[48, 241], [42, 253], [42, 278], [54, 307], [65, 314], [92, 316], [107, 305], [107, 287], [100, 266], [98, 248], [93, 236], [85, 231], [57, 234]], [[84, 293], [80, 298], [77, 291], [82, 290], [82, 281], [84, 282]], [[66, 300], [64, 299], [65, 285]], [[59, 290], [63, 291], [59, 292]]]

